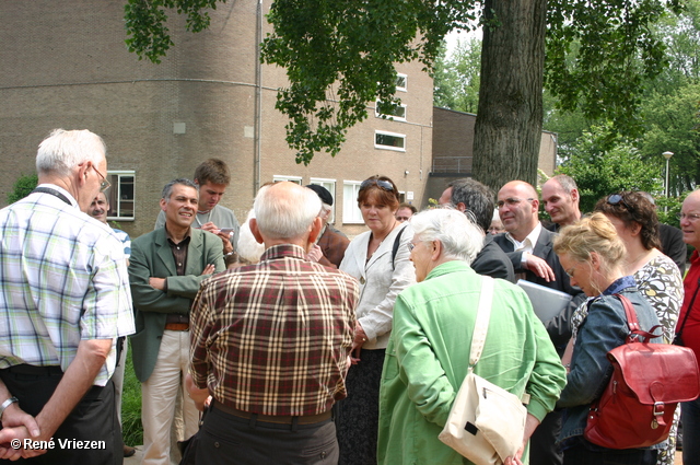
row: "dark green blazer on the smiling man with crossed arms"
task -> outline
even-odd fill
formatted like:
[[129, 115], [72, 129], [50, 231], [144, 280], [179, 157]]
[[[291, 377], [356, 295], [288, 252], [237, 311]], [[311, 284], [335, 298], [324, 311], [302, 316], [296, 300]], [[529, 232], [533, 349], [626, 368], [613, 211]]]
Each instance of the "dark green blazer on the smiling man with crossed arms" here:
[[[142, 383], [155, 367], [166, 315], [189, 314], [199, 284], [207, 278], [201, 276], [207, 265], [213, 264], [215, 272], [225, 269], [223, 244], [217, 235], [192, 228], [188, 247], [186, 275], [177, 276], [165, 228], [143, 234], [131, 242], [129, 282], [136, 310], [136, 334], [130, 336], [131, 354], [136, 377]], [[166, 278], [167, 292], [153, 289], [149, 284], [151, 277]]]

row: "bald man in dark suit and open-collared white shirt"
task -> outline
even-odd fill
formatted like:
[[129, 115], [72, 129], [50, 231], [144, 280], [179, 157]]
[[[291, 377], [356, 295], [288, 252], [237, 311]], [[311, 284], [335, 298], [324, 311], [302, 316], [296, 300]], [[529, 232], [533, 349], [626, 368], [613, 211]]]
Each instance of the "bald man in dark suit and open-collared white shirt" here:
[[[509, 256], [515, 272], [527, 281], [572, 295], [567, 309], [545, 322], [561, 356], [571, 338], [571, 314], [585, 300], [585, 294], [571, 286], [559, 264], [552, 248], [555, 233], [544, 229], [537, 217], [539, 199], [535, 188], [523, 181], [512, 181], [499, 190], [497, 205], [506, 232], [494, 236], [493, 242]], [[563, 462], [563, 454], [555, 445], [560, 430], [561, 415], [557, 411], [547, 415], [530, 439], [530, 463]]]

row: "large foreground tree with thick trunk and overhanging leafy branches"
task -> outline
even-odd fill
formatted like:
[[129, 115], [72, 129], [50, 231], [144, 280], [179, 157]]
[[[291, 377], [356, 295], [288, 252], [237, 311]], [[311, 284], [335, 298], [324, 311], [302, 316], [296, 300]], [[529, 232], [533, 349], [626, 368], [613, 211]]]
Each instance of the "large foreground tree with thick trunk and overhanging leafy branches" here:
[[[482, 75], [488, 70], [492, 77], [512, 75], [522, 83], [532, 82], [502, 95], [499, 102], [480, 98], [475, 170], [492, 167], [494, 162], [502, 165], [500, 171], [482, 173], [486, 178], [481, 181], [497, 185], [518, 176], [523, 165], [522, 178], [534, 181], [538, 150], [530, 142], [541, 130], [542, 72], [563, 108], [581, 108], [590, 117], [607, 115], [621, 128], [634, 127], [639, 74], [653, 75], [664, 61], [663, 44], [650, 25], [668, 9], [677, 10], [678, 2], [276, 0], [268, 15], [273, 32], [265, 39], [262, 59], [287, 69], [289, 86], [279, 92], [277, 108], [290, 118], [287, 141], [298, 151], [298, 162], [308, 163], [318, 151], [335, 154], [340, 150], [347, 130], [366, 118], [369, 102], [378, 96], [383, 102], [398, 103], [394, 63], [418, 59], [430, 69], [445, 34], [453, 28], [468, 30], [479, 19], [488, 28], [485, 37], [489, 37], [482, 49]], [[129, 0], [129, 49], [156, 61], [172, 45], [162, 7], [187, 14], [188, 25], [196, 31], [206, 27], [203, 8], [214, 3]], [[513, 25], [533, 19], [537, 27], [514, 32]], [[546, 27], [541, 27], [545, 20]], [[512, 36], [521, 33], [524, 35]], [[524, 47], [528, 47], [528, 58], [518, 60]], [[632, 59], [635, 57], [641, 57], [641, 65]], [[492, 88], [499, 85], [482, 78], [480, 93], [490, 91], [498, 96], [500, 90]], [[509, 120], [498, 117], [509, 107], [516, 114], [534, 111], [526, 124], [513, 130]], [[504, 156], [515, 162], [500, 163]]]

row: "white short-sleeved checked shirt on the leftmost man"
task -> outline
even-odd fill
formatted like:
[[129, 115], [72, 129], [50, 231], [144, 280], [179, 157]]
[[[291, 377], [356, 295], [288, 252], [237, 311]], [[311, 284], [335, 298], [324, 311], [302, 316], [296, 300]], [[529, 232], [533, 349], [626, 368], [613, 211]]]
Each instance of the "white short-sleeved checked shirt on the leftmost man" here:
[[[81, 340], [133, 333], [124, 246], [112, 230], [50, 194], [0, 210], [0, 369], [73, 361]], [[116, 364], [113, 344], [94, 384]]]

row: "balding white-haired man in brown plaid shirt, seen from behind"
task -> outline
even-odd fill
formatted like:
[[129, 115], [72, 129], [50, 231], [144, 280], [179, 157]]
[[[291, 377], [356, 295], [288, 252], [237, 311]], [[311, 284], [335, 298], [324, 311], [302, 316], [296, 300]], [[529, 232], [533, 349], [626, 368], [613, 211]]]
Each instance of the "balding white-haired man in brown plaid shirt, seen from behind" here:
[[192, 306], [189, 394], [212, 396], [197, 464], [335, 464], [359, 286], [305, 259], [322, 226], [311, 189], [265, 186], [254, 208], [260, 263], [205, 281]]

